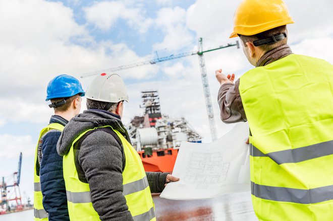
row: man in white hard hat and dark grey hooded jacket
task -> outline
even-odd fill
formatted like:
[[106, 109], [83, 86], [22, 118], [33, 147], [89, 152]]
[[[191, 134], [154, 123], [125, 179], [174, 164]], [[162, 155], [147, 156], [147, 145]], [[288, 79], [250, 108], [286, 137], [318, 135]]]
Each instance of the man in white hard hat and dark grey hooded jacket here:
[[146, 173], [121, 121], [128, 95], [116, 74], [101, 73], [86, 92], [87, 108], [65, 127], [57, 150], [71, 220], [155, 220], [151, 192], [168, 173]]

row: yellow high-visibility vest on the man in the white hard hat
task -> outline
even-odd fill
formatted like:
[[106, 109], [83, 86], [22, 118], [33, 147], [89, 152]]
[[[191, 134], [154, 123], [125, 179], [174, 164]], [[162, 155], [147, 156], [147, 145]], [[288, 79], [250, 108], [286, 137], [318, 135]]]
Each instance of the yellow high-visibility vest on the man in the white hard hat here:
[[[150, 188], [141, 159], [133, 146], [125, 137], [111, 126], [110, 128], [119, 136], [125, 154], [125, 168], [123, 171], [123, 195], [126, 198], [127, 206], [134, 220], [156, 220], [154, 203], [151, 197]], [[72, 221], [99, 220], [91, 202], [91, 194], [88, 183], [79, 180], [74, 162], [73, 145], [88, 131], [81, 133], [72, 143], [71, 149], [64, 156], [64, 179], [67, 192], [68, 212]]]

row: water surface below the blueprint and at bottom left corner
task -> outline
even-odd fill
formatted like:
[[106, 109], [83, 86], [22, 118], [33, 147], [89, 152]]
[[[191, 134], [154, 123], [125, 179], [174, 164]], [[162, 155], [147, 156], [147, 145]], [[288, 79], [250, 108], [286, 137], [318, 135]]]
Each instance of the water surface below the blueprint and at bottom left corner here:
[[[158, 221], [257, 221], [250, 192], [221, 195], [205, 200], [169, 200], [153, 196]], [[33, 209], [0, 215], [0, 221], [33, 220]]]

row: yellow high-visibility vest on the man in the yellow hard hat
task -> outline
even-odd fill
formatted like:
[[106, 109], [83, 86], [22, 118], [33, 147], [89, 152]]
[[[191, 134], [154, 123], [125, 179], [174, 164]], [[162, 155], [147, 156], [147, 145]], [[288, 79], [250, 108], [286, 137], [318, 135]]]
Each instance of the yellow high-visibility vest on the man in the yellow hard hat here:
[[333, 65], [290, 54], [246, 72], [251, 193], [260, 220], [333, 220]]

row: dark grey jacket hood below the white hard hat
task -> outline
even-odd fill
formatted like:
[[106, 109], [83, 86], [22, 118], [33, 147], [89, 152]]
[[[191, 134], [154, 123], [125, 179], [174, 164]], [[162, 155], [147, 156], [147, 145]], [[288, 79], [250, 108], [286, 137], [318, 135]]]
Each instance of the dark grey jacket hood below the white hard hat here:
[[89, 109], [73, 117], [65, 126], [57, 143], [57, 152], [65, 156], [73, 141], [84, 131], [94, 127], [112, 126], [114, 129], [127, 133], [120, 119], [101, 110]]

